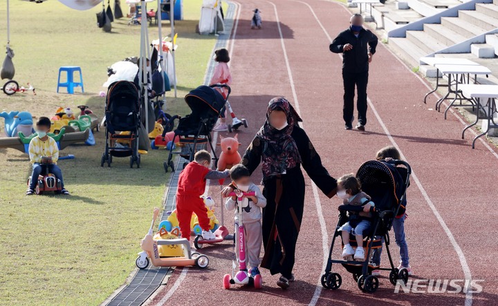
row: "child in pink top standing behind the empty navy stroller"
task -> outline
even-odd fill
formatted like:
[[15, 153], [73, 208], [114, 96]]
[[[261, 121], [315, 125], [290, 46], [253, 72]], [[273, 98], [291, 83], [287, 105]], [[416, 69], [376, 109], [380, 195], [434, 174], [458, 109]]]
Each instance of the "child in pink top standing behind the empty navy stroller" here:
[[[210, 86], [215, 84], [225, 84], [230, 86], [232, 84], [232, 74], [230, 73], [230, 68], [228, 67], [228, 62], [230, 61], [230, 55], [228, 55], [228, 50], [225, 48], [214, 51], [214, 60], [218, 62], [214, 68], [214, 73], [210, 81]], [[223, 98], [226, 99], [228, 90], [225, 88], [216, 88]], [[213, 131], [228, 131], [228, 126], [226, 125], [226, 108], [223, 106], [220, 111], [219, 121], [214, 126]]]

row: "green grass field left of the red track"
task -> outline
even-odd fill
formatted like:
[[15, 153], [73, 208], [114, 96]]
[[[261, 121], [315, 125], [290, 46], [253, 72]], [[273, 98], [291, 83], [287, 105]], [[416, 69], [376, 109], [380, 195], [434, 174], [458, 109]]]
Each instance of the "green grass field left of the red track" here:
[[[121, 2], [126, 12], [127, 5]], [[178, 99], [168, 93], [169, 113], [188, 113], [183, 96], [203, 83], [214, 46], [214, 37], [195, 34], [201, 2], [184, 1], [185, 20], [176, 22]], [[96, 26], [99, 10], [99, 6], [84, 12], [71, 10], [56, 0], [42, 4], [10, 1], [15, 79], [20, 85], [33, 84], [37, 95], [0, 93], [0, 111], [30, 111], [40, 117], [53, 115], [58, 106], [86, 104], [102, 117], [104, 98], [98, 93], [106, 90], [102, 87], [106, 68], [138, 56], [140, 26], [127, 26], [128, 19], [123, 18], [113, 23], [112, 33], [105, 33]], [[0, 19], [3, 45], [5, 2], [0, 6]], [[169, 22], [163, 25], [163, 35], [169, 35]], [[150, 39], [156, 37], [153, 26]], [[59, 66], [67, 65], [82, 67], [86, 93], [55, 93]], [[69, 197], [26, 197], [28, 156], [0, 149], [0, 305], [98, 305], [132, 271], [152, 209], [163, 200], [167, 153], [142, 155], [140, 169], [129, 169], [128, 158], [114, 158], [111, 168], [101, 168], [104, 132], [95, 133], [95, 138], [96, 146], [70, 146], [61, 151], [76, 156], [59, 162]]]

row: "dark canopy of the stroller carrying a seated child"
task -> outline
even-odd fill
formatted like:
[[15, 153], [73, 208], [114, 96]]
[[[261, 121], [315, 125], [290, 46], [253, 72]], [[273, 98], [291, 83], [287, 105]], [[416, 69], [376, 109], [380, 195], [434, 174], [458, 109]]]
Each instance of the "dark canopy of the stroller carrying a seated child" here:
[[396, 211], [405, 193], [405, 182], [396, 166], [371, 160], [360, 166], [356, 177], [362, 184], [362, 191], [370, 195], [379, 211]]

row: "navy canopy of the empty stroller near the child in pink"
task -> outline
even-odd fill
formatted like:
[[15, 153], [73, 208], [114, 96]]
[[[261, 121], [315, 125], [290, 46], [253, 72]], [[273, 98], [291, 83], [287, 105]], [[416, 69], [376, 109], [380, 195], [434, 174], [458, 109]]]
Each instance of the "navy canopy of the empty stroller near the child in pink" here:
[[210, 86], [199, 86], [185, 95], [185, 102], [192, 110], [192, 115], [199, 114], [202, 117], [218, 117], [221, 108], [225, 105], [225, 99], [218, 90]]

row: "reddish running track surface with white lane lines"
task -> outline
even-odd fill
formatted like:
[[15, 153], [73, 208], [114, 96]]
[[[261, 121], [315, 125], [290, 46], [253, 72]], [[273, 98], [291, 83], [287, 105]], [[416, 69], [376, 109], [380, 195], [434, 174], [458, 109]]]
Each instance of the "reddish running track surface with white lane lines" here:
[[[230, 102], [235, 113], [249, 123], [249, 128], [239, 131], [241, 147], [250, 143], [263, 124], [268, 101], [279, 95], [298, 106], [304, 129], [335, 177], [356, 172], [382, 146], [398, 146], [415, 173], [407, 193], [409, 218], [405, 222], [415, 274], [412, 279], [484, 280], [480, 283], [483, 292], [394, 294], [386, 272], [376, 293], [365, 294], [351, 274], [337, 265], [333, 268], [342, 275], [342, 287], [322, 290], [317, 283], [324, 251], [328, 251], [338, 220], [340, 200], [314, 192], [307, 178], [294, 271], [297, 281], [291, 288], [283, 291], [276, 285], [278, 276], [262, 269], [264, 289], [236, 286], [224, 290], [222, 278], [232, 271], [233, 258], [232, 244], [224, 242], [201, 250], [210, 256], [209, 269], [176, 269], [151, 304], [497, 305], [497, 268], [493, 263], [498, 249], [498, 213], [492, 208], [497, 195], [493, 184], [498, 179], [496, 153], [483, 142], [470, 149], [469, 139], [460, 139], [463, 125], [457, 116], [444, 120], [441, 113], [430, 111], [435, 98], [427, 106], [423, 104], [426, 85], [382, 44], [370, 68], [367, 132], [344, 131], [342, 64], [338, 55], [329, 52], [329, 37], [347, 28], [350, 14], [338, 3], [305, 2], [243, 1], [240, 6]], [[250, 30], [255, 8], [261, 10], [262, 30]], [[255, 174], [254, 182], [259, 182], [260, 171]], [[219, 191], [219, 186], [212, 186], [209, 192], [221, 204]], [[225, 225], [230, 230], [232, 218], [232, 213], [225, 212]], [[335, 245], [335, 258], [340, 256], [339, 250]], [[394, 238], [391, 250], [397, 261]], [[382, 255], [385, 264], [386, 252]]]

